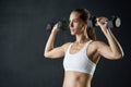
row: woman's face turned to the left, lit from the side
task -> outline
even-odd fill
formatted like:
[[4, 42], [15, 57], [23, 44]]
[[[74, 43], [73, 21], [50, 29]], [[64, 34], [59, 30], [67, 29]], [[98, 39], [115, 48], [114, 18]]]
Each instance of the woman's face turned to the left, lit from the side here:
[[71, 35], [80, 35], [84, 32], [85, 23], [80, 18], [79, 12], [71, 12], [70, 14], [70, 32]]

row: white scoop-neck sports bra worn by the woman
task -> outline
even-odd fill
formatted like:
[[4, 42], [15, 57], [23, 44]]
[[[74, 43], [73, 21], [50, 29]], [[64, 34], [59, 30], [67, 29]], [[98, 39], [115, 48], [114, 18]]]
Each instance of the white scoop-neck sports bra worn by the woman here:
[[87, 41], [84, 47], [76, 53], [71, 54], [70, 49], [73, 44], [71, 44], [66, 52], [63, 59], [64, 71], [76, 71], [82, 73], [87, 73], [93, 75], [96, 69], [96, 64], [92, 62], [87, 57], [87, 47], [92, 40]]

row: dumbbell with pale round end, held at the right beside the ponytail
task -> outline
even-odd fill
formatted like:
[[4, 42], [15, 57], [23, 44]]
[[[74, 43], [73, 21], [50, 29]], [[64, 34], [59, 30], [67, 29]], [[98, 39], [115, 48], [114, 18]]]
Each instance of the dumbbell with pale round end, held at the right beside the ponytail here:
[[[118, 16], [111, 16], [108, 22], [107, 22], [107, 26], [109, 28], [116, 28], [116, 27], [120, 27], [121, 25], [121, 21], [120, 17]], [[96, 23], [96, 16], [92, 16], [88, 21], [87, 21], [87, 26], [88, 27], [97, 27], [97, 23]]]

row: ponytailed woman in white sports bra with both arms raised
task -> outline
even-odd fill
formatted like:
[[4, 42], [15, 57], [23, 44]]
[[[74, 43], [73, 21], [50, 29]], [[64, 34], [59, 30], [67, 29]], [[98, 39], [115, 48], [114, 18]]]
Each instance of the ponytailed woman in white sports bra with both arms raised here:
[[70, 14], [70, 32], [75, 36], [74, 42], [67, 42], [53, 48], [58, 24], [51, 30], [45, 48], [45, 58], [63, 59], [64, 80], [63, 87], [91, 87], [93, 74], [100, 57], [118, 60], [123, 57], [123, 51], [107, 26], [106, 17], [97, 17], [97, 25], [108, 40], [108, 45], [97, 41], [94, 28], [87, 27], [90, 12], [86, 9], [73, 10]]

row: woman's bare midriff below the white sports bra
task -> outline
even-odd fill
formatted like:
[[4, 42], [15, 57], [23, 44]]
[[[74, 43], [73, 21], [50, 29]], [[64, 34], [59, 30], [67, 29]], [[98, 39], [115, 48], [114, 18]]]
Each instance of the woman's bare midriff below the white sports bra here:
[[91, 87], [92, 75], [74, 71], [66, 71], [63, 87]]

